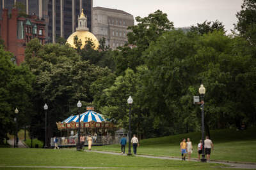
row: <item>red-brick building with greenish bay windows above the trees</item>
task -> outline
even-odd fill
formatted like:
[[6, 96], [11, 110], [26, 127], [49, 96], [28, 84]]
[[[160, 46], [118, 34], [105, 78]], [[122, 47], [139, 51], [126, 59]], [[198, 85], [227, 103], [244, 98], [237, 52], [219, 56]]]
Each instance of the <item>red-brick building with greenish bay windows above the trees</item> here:
[[16, 8], [8, 15], [8, 9], [4, 8], [0, 20], [0, 35], [6, 50], [14, 54], [19, 65], [25, 59], [26, 43], [33, 38], [38, 38], [42, 44], [45, 43], [45, 22], [39, 20], [36, 15], [19, 16]]

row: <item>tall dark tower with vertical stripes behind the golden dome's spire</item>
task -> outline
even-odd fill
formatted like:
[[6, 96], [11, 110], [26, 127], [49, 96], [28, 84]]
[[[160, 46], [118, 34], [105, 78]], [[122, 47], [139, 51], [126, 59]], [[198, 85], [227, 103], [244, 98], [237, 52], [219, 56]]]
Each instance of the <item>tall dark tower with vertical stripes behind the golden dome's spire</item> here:
[[87, 24], [92, 31], [93, 0], [0, 0], [0, 18], [4, 8], [12, 10], [17, 2], [26, 6], [28, 15], [35, 14], [45, 20], [45, 42], [55, 43], [56, 38], [65, 39], [76, 31], [77, 16], [82, 8], [87, 16]]

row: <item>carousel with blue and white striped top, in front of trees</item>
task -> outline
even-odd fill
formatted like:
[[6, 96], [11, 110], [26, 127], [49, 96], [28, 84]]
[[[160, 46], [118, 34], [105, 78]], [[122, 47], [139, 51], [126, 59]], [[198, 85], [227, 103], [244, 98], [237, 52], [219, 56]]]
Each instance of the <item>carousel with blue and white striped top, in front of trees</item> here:
[[[78, 141], [79, 115], [71, 115], [62, 122], [56, 123], [61, 136], [58, 137], [59, 146], [75, 146]], [[87, 138], [93, 139], [93, 145], [110, 145], [115, 143], [113, 132], [115, 126], [106, 120], [92, 106], [86, 107], [86, 112], [80, 114], [80, 141], [88, 145]], [[53, 138], [51, 145], [54, 146]]]

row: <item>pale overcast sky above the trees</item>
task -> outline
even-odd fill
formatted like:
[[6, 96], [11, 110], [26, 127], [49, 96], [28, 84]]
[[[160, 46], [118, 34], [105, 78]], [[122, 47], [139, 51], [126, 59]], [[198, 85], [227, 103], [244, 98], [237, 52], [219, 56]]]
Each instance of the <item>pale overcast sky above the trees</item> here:
[[[93, 6], [123, 10], [133, 17], [146, 17], [161, 10], [175, 27], [188, 27], [205, 20], [219, 20], [230, 32], [243, 0], [94, 0]], [[135, 23], [136, 24], [136, 23]]]

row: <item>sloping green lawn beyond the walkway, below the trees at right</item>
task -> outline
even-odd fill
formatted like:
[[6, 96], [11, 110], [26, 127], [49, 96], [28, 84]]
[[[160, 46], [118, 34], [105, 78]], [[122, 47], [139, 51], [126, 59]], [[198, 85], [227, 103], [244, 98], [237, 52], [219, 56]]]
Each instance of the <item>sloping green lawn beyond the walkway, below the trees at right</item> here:
[[[211, 154], [212, 160], [230, 160], [236, 162], [256, 162], [256, 128], [246, 131], [234, 129], [211, 131], [211, 139], [214, 143], [214, 150]], [[190, 138], [194, 151], [192, 157], [197, 157], [197, 145], [200, 140], [200, 132], [165, 136], [161, 138], [143, 139], [138, 147], [138, 154], [165, 155], [180, 157], [180, 141], [183, 138]], [[105, 150], [120, 152], [119, 145], [93, 146], [93, 150]], [[132, 148], [131, 148], [132, 150]], [[126, 145], [126, 151], [128, 145]]]

